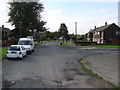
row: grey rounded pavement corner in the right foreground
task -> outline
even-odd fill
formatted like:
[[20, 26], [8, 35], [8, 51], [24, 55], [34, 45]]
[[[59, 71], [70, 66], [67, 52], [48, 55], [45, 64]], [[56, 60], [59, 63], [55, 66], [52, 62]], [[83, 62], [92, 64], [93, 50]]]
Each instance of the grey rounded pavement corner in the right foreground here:
[[106, 81], [118, 86], [119, 55], [120, 53], [100, 54], [85, 58], [83, 62], [88, 69], [102, 76]]

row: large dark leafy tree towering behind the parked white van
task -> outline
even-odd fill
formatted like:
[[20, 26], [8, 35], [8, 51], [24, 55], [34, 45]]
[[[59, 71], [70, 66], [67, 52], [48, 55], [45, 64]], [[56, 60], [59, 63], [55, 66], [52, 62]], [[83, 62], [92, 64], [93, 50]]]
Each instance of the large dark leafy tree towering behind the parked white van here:
[[14, 32], [19, 33], [19, 37], [25, 37], [30, 34], [30, 31], [33, 33], [35, 29], [37, 31], [45, 30], [43, 26], [46, 22], [41, 20], [40, 15], [44, 9], [42, 3], [10, 2], [9, 5], [8, 22], [15, 26]]

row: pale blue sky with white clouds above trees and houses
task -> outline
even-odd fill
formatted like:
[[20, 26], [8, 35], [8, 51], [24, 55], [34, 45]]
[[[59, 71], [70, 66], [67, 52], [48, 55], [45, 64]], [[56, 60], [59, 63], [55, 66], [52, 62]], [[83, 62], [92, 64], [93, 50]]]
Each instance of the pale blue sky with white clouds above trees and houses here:
[[[8, 0], [0, 2], [0, 26], [13, 29], [11, 23], [7, 23], [9, 17]], [[49, 31], [58, 31], [61, 23], [65, 23], [69, 33], [75, 32], [77, 22], [77, 34], [85, 34], [94, 27], [115, 23], [118, 25], [118, 1], [117, 0], [41, 0], [44, 5], [42, 20]]]

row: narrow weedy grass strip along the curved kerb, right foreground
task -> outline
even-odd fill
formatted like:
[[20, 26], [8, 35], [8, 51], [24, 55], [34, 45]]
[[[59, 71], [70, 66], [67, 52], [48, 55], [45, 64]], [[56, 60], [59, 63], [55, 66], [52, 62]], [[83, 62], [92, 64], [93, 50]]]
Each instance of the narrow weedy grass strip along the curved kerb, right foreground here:
[[[84, 60], [84, 58], [80, 59], [80, 65], [82, 66], [83, 70], [85, 70], [88, 74], [92, 75], [93, 77], [97, 78], [97, 79], [103, 79], [101, 76], [99, 76], [98, 74], [94, 73], [93, 71], [89, 70], [86, 66], [85, 63], [82, 62]], [[106, 81], [106, 80], [105, 80]], [[112, 88], [114, 88], [115, 90], [120, 90], [120, 87], [114, 85], [113, 83], [106, 81], [109, 85], [112, 86]]]

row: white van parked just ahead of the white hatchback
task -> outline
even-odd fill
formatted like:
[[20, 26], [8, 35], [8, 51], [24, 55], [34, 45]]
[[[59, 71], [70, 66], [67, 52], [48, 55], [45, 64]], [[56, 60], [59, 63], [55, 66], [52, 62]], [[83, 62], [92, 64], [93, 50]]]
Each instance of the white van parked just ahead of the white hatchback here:
[[31, 38], [20, 38], [18, 41], [18, 45], [22, 45], [26, 48], [27, 53], [34, 52], [34, 42]]

